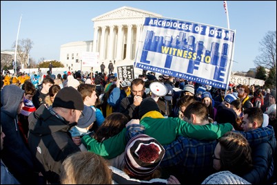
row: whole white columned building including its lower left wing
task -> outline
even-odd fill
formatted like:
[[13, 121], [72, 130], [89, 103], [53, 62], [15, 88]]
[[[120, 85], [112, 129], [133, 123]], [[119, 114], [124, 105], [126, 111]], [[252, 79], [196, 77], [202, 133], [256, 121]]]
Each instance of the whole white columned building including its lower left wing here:
[[60, 61], [65, 67], [81, 69], [81, 52], [99, 52], [106, 67], [109, 61], [133, 62], [144, 17], [161, 17], [161, 14], [123, 6], [92, 19], [93, 41], [80, 41], [61, 45]]

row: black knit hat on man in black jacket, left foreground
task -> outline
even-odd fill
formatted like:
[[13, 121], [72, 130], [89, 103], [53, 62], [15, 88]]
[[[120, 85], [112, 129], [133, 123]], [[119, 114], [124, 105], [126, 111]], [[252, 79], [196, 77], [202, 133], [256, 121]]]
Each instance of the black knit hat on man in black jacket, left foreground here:
[[63, 87], [54, 98], [52, 107], [83, 111], [83, 98], [74, 87]]

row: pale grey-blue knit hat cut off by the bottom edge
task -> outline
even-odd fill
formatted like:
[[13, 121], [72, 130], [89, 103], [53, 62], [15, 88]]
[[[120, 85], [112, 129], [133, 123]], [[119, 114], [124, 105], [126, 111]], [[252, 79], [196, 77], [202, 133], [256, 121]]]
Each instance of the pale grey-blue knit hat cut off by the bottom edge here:
[[220, 171], [209, 175], [202, 184], [251, 184], [242, 177], [230, 172]]

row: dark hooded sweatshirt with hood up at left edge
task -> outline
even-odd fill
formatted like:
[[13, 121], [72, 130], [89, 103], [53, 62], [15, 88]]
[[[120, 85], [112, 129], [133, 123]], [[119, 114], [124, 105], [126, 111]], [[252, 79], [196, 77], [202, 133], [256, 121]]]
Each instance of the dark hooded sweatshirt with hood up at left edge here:
[[21, 184], [32, 184], [34, 180], [32, 154], [23, 142], [17, 117], [19, 105], [23, 103], [23, 94], [24, 91], [17, 85], [7, 85], [1, 90], [1, 126], [6, 135], [3, 139], [1, 160]]

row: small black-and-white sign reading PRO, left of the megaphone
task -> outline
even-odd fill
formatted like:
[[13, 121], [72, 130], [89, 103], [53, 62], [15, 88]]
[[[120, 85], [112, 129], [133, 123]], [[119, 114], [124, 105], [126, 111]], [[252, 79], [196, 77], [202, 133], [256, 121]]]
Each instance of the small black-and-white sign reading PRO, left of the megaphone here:
[[121, 65], [117, 66], [117, 78], [121, 81], [121, 86], [131, 86], [132, 80], [134, 80], [134, 65]]

